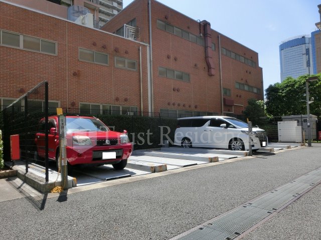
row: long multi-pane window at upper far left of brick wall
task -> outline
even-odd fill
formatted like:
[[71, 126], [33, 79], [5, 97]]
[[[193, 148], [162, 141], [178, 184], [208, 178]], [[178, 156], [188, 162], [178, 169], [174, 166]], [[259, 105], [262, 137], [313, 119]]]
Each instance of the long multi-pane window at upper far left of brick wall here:
[[0, 38], [0, 44], [4, 46], [57, 55], [57, 43], [54, 41], [5, 30], [0, 30]]

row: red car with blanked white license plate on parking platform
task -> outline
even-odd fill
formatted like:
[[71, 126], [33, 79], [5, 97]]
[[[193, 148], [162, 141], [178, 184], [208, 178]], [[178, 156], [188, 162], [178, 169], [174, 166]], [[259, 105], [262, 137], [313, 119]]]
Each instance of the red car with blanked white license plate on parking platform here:
[[[35, 156], [45, 157], [45, 119], [40, 120], [36, 133]], [[49, 117], [49, 159], [59, 159], [58, 116]], [[77, 164], [112, 164], [114, 169], [123, 169], [131, 155], [132, 145], [126, 131], [111, 131], [102, 121], [93, 116], [66, 116], [66, 152], [68, 166]], [[36, 158], [36, 159], [37, 159]], [[58, 167], [57, 167], [58, 168]]]

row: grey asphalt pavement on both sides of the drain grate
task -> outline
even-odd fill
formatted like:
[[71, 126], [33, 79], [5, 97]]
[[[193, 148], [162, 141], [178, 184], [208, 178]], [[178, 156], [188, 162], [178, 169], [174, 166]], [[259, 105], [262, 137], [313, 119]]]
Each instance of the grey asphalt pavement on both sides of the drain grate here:
[[[36, 200], [12, 187], [15, 197], [0, 198], [1, 238], [169, 239], [321, 167], [320, 154], [321, 144], [313, 144], [97, 183], [99, 188], [76, 187], [67, 195]], [[320, 195], [317, 185], [244, 239], [320, 239]]]

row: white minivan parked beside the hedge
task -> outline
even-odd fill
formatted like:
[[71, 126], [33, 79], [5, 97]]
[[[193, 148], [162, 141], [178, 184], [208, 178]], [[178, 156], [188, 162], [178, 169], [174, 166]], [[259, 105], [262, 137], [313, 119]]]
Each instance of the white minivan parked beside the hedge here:
[[[256, 150], [266, 146], [263, 129], [252, 128], [251, 145]], [[183, 147], [214, 147], [231, 150], [248, 150], [248, 124], [229, 116], [195, 116], [178, 118], [175, 145]]]

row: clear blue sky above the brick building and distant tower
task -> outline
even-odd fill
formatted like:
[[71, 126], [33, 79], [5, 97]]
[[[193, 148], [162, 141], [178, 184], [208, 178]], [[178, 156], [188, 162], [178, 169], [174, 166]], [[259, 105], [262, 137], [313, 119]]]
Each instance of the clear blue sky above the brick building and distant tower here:
[[[123, 7], [132, 1], [123, 0]], [[321, 0], [158, 1], [193, 19], [208, 20], [216, 31], [258, 52], [264, 89], [280, 82], [281, 41], [310, 35], [320, 21]]]

